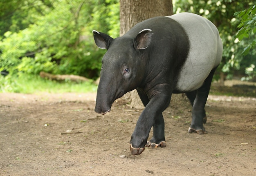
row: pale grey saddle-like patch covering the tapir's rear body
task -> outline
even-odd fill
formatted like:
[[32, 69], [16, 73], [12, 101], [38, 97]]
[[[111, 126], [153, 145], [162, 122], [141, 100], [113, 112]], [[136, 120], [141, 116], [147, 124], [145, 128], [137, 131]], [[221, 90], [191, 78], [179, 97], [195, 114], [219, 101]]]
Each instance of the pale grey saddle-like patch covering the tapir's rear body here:
[[201, 16], [182, 13], [169, 16], [184, 27], [189, 37], [189, 54], [178, 75], [175, 91], [187, 92], [200, 88], [222, 57], [222, 43], [217, 28]]

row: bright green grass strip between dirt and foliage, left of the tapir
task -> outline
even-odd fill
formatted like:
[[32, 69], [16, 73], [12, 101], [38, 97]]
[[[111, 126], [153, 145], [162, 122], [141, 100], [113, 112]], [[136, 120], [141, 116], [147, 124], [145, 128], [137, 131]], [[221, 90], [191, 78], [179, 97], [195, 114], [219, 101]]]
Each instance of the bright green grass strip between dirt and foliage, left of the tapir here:
[[58, 82], [47, 80], [40, 76], [25, 75], [6, 76], [0, 75], [0, 92], [12, 92], [23, 94], [34, 94], [39, 92], [48, 93], [65, 93], [65, 92], [95, 92], [97, 85], [92, 81], [89, 82], [71, 82], [69, 80]]

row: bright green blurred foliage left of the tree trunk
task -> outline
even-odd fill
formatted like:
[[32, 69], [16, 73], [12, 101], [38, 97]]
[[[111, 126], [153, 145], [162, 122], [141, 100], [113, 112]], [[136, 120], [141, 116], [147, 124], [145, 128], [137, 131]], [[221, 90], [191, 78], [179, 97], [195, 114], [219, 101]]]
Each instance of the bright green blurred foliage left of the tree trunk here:
[[106, 51], [98, 51], [92, 29], [117, 37], [118, 0], [20, 0], [18, 7], [16, 0], [4, 2], [0, 17], [10, 22], [0, 22], [0, 71], [99, 76]]

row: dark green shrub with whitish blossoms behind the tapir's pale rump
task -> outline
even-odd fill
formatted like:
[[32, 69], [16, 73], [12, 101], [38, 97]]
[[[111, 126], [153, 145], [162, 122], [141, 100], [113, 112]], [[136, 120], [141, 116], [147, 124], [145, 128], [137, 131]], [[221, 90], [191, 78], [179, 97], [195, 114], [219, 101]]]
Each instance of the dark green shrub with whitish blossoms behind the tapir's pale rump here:
[[176, 0], [174, 11], [197, 13], [216, 25], [223, 43], [222, 62], [217, 72], [223, 71], [229, 78], [236, 72], [244, 74], [245, 68], [256, 62], [255, 48], [252, 48], [247, 57], [241, 56], [244, 47], [252, 42], [253, 37], [239, 42], [236, 27], [240, 20], [234, 16], [234, 13], [243, 11], [252, 4], [250, 0]]

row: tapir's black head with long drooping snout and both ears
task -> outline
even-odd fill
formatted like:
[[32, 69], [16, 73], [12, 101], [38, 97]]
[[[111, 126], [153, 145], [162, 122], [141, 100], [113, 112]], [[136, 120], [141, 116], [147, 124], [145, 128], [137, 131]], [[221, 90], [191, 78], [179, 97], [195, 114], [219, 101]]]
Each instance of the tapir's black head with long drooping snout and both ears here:
[[95, 111], [106, 114], [112, 103], [141, 84], [145, 71], [145, 53], [153, 33], [144, 29], [137, 34], [111, 38], [105, 33], [92, 31], [94, 41], [101, 49], [108, 49], [102, 59], [101, 76]]

